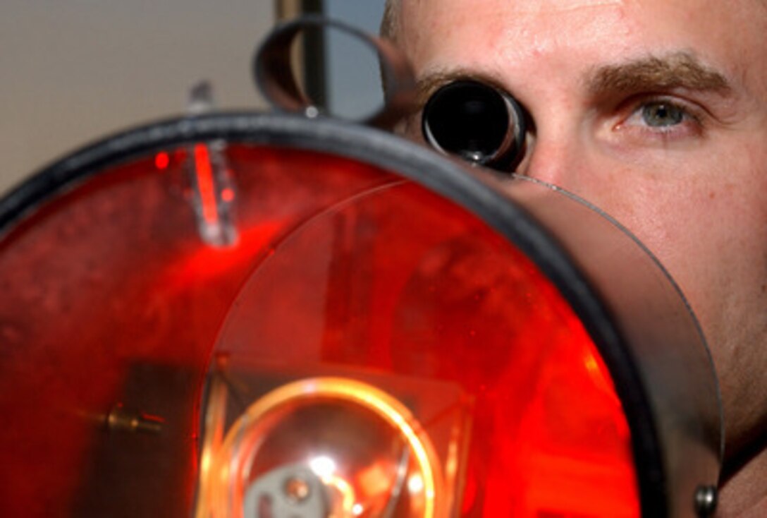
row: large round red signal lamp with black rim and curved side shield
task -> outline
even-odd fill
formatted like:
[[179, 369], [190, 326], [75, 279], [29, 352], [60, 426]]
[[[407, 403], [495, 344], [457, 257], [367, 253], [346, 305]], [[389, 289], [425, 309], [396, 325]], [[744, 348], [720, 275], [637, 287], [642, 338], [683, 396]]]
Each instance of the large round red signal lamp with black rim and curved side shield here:
[[641, 246], [332, 120], [171, 120], [0, 206], [2, 516], [696, 516], [720, 415]]

